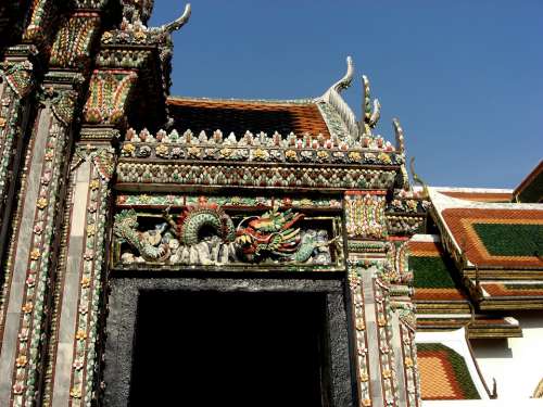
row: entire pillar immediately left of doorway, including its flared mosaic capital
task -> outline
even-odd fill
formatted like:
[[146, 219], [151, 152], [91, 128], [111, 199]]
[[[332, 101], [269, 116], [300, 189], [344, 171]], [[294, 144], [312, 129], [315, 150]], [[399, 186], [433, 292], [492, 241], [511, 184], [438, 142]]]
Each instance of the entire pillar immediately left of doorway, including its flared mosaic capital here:
[[[99, 321], [106, 267], [110, 180], [118, 138], [113, 126], [126, 122], [137, 74], [131, 69], [96, 69], [83, 109], [85, 125], [71, 165], [43, 395], [45, 406], [90, 406], [100, 397]], [[61, 295], [62, 293], [62, 295]]]

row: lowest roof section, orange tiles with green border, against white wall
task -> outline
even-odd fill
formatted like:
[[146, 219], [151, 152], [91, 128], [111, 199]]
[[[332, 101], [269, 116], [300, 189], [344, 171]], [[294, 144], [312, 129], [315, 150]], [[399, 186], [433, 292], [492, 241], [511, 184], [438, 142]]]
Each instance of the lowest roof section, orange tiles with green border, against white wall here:
[[466, 360], [441, 343], [417, 344], [424, 400], [480, 399]]

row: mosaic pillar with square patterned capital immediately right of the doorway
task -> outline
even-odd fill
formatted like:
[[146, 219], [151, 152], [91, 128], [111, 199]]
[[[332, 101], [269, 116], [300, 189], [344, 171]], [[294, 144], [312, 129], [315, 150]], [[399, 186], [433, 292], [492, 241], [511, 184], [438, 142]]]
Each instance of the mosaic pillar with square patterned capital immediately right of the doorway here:
[[386, 276], [389, 233], [386, 191], [348, 191], [350, 283], [356, 327], [361, 406], [402, 406], [399, 397], [393, 315]]

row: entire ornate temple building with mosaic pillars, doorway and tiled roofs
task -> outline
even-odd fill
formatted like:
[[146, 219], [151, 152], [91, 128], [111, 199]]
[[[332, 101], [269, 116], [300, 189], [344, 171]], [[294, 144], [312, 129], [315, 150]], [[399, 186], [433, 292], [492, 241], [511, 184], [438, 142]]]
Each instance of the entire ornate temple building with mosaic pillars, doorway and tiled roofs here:
[[541, 405], [543, 162], [428, 186], [351, 58], [171, 96], [152, 8], [0, 4], [0, 406]]

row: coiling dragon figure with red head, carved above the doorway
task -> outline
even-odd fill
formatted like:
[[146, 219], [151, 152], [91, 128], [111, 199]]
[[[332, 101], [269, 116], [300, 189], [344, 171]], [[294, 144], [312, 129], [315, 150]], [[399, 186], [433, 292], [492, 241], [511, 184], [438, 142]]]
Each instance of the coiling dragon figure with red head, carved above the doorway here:
[[[336, 240], [323, 241], [316, 232], [303, 233], [294, 225], [304, 215], [290, 209], [281, 213], [274, 208], [262, 216], [247, 217], [237, 228], [218, 205], [191, 206], [176, 218], [168, 207], [162, 216], [164, 222], [142, 232], [136, 211], [122, 211], [115, 215], [114, 234], [144, 262], [204, 265], [265, 259], [305, 263], [316, 249]], [[131, 257], [126, 263], [131, 263]]]

